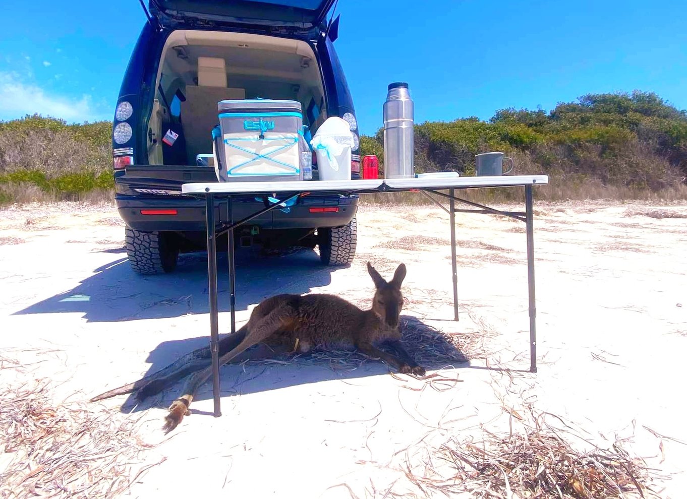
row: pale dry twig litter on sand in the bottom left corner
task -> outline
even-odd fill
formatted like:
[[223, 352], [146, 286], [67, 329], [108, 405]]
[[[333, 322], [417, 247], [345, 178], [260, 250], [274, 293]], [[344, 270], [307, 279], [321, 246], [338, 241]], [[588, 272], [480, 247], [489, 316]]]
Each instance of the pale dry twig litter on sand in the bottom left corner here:
[[54, 404], [50, 382], [24, 372], [0, 393], [0, 449], [12, 454], [0, 473], [1, 498], [113, 498], [152, 466], [131, 478], [132, 460], [153, 447], [137, 437], [134, 421]]

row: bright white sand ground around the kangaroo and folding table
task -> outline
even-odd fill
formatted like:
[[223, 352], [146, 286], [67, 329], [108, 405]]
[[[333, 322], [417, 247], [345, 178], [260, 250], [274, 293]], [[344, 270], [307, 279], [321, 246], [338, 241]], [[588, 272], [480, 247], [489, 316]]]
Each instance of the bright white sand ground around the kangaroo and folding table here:
[[[522, 222], [458, 215], [461, 316], [455, 323], [450, 248], [436, 244], [448, 243], [446, 214], [361, 208], [358, 256], [350, 268], [323, 268], [314, 252], [241, 257], [239, 324], [252, 305], [278, 292], [334, 292], [367, 305], [368, 259], [388, 278], [405, 262], [410, 303], [403, 313], [448, 334], [484, 331], [486, 362], [443, 369], [462, 380], [445, 391], [407, 376], [394, 379], [374, 360], [354, 370], [312, 360], [223, 367], [223, 417], [210, 415], [210, 382], [192, 404], [194, 415], [168, 437], [160, 430], [164, 408], [180, 385], [153, 408], [132, 413], [144, 421], [145, 441], [163, 442], [144, 454], [146, 461], [167, 460], [142, 475], [131, 495], [350, 498], [337, 486], [346, 483], [361, 498], [384, 497], [390, 487], [399, 495], [439, 497], [409, 483], [404, 469], [423, 474], [432, 446], [451, 436], [479, 437], [480, 423], [507, 430], [504, 406], [521, 410], [525, 403], [576, 423], [590, 439], [631, 437], [626, 447], [651, 466], [684, 471], [687, 445], [663, 439], [662, 462], [661, 439], [646, 428], [687, 442], [679, 395], [687, 351], [687, 219], [642, 213], [685, 214], [687, 208], [600, 202], [535, 208], [537, 374], [526, 372]], [[0, 349], [40, 361], [32, 369], [54, 380], [56, 397], [86, 401], [207, 344], [203, 255], [184, 255], [174, 274], [142, 277], [128, 267], [124, 229], [111, 207], [34, 206], [0, 218]], [[251, 266], [258, 261], [267, 270]], [[220, 262], [226, 268], [224, 256]], [[226, 310], [226, 283], [220, 289]], [[221, 332], [228, 324], [223, 312]], [[52, 351], [26, 351], [36, 347]], [[475, 369], [486, 364], [518, 371]], [[117, 413], [126, 399], [91, 405]], [[665, 486], [665, 497], [684, 497], [686, 477], [677, 474]]]

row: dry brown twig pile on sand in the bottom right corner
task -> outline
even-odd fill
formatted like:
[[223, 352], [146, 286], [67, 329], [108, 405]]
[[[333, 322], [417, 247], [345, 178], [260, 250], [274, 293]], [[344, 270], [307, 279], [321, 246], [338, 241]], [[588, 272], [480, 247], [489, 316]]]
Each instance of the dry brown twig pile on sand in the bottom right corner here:
[[519, 432], [485, 432], [479, 441], [444, 443], [440, 455], [453, 465], [453, 483], [460, 484], [453, 490], [475, 498], [659, 497], [651, 489], [651, 470], [619, 441], [609, 449], [592, 446], [583, 452], [567, 438], [576, 437], [570, 426], [564, 423], [565, 431], [556, 430], [544, 416], [519, 421]]

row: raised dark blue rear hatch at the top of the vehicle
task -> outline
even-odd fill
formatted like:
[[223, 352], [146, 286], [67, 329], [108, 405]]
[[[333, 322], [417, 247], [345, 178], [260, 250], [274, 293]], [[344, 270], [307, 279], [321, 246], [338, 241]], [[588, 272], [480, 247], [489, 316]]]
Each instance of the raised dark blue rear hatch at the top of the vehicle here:
[[335, 0], [150, 0], [150, 14], [161, 25], [260, 25], [312, 30]]

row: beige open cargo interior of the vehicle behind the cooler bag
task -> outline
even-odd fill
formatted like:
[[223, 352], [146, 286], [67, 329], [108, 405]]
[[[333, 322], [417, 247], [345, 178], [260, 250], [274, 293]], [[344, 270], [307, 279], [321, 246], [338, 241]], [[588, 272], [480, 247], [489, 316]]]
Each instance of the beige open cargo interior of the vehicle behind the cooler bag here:
[[258, 34], [172, 32], [162, 51], [148, 122], [148, 162], [199, 164], [199, 154], [212, 154], [217, 103], [256, 97], [300, 102], [303, 124], [314, 135], [327, 116], [311, 46]]

